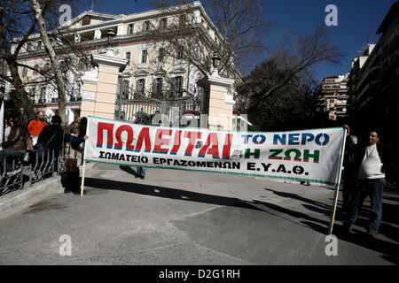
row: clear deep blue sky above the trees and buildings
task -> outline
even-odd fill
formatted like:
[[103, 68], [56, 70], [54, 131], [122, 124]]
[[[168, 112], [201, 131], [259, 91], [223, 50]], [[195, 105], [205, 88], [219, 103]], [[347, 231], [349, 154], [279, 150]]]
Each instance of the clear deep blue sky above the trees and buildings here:
[[[90, 1], [89, 1], [90, 2]], [[151, 1], [137, 0], [98, 0], [94, 11], [114, 14], [129, 14], [152, 9]], [[269, 0], [264, 16], [274, 21], [277, 30], [284, 27], [293, 28], [301, 33], [311, 33], [317, 24], [325, 22], [325, 6], [335, 4], [338, 8], [338, 27], [328, 27], [332, 44], [338, 46], [347, 56], [341, 65], [321, 64], [315, 69], [315, 78], [321, 80], [326, 76], [350, 71], [350, 62], [365, 43], [377, 42], [376, 31], [387, 11], [395, 0]], [[258, 58], [260, 63], [262, 57]]]

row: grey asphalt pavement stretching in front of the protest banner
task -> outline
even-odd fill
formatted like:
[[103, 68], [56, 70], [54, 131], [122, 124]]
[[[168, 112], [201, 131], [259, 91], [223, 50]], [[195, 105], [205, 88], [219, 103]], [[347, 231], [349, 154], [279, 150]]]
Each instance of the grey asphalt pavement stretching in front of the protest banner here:
[[385, 192], [377, 239], [364, 233], [367, 210], [356, 234], [339, 233], [338, 213], [338, 255], [326, 256], [332, 188], [162, 169], [140, 180], [134, 169], [99, 164], [83, 198], [59, 187], [4, 211], [0, 264], [399, 263], [397, 191]]

